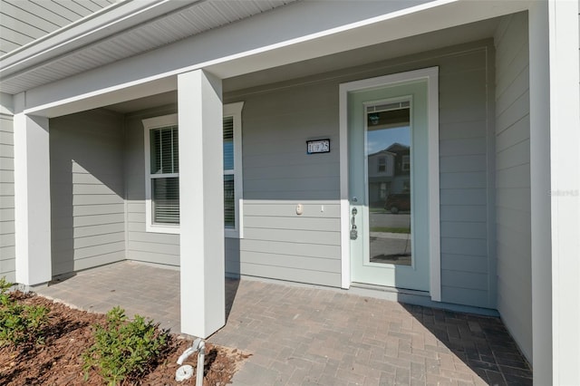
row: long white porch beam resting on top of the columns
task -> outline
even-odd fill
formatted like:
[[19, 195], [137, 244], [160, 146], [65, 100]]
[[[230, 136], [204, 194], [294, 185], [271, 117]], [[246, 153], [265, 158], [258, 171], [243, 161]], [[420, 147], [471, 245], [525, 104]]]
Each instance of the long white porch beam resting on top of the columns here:
[[[458, 0], [418, 2], [414, 3], [418, 5], [403, 8], [401, 4], [408, 5], [399, 2], [297, 2], [30, 90], [26, 92], [26, 111], [55, 116], [50, 111], [53, 107], [173, 77], [181, 72], [204, 69], [227, 79], [510, 14], [527, 9], [528, 5], [516, 1], [494, 2], [494, 6], [489, 6], [488, 2]], [[321, 19], [320, 14], [325, 17]], [[300, 20], [300, 28], [296, 28], [296, 20]], [[100, 106], [94, 103], [90, 106], [96, 107]], [[74, 111], [67, 111], [70, 112]]]

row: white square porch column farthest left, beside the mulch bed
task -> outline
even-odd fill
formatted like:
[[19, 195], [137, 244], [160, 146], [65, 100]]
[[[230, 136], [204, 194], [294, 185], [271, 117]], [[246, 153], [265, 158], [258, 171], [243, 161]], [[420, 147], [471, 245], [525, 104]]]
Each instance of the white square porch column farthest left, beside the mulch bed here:
[[[15, 104], [22, 95], [15, 98]], [[22, 111], [16, 109], [16, 111]], [[51, 197], [48, 118], [14, 115], [16, 282], [51, 280]]]

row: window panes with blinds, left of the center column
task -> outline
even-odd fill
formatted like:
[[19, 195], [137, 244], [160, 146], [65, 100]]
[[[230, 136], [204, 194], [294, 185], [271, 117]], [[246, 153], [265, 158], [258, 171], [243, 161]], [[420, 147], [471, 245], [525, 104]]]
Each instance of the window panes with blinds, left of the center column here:
[[179, 224], [179, 131], [150, 130], [150, 179], [153, 224]]

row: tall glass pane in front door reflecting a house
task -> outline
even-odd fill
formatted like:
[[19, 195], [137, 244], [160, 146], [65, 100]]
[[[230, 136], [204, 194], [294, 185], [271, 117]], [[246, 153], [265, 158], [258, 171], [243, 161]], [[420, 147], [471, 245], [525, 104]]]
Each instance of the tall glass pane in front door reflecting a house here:
[[369, 263], [411, 265], [410, 102], [366, 107]]

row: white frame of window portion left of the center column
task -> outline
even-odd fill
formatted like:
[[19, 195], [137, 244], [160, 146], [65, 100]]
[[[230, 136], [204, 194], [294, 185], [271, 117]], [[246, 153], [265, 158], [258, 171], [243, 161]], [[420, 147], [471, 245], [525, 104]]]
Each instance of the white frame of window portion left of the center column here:
[[[150, 148], [150, 130], [162, 129], [169, 126], [178, 125], [178, 114], [162, 115], [160, 117], [148, 118], [143, 120], [143, 134], [145, 143], [145, 230], [147, 232], [155, 233], [172, 233], [179, 235], [179, 224], [154, 224], [153, 223], [153, 207], [151, 199], [151, 179], [154, 174], [151, 174], [151, 148]], [[179, 128], [178, 128], [179, 130]], [[179, 173], [164, 174], [163, 177], [177, 177]]]

